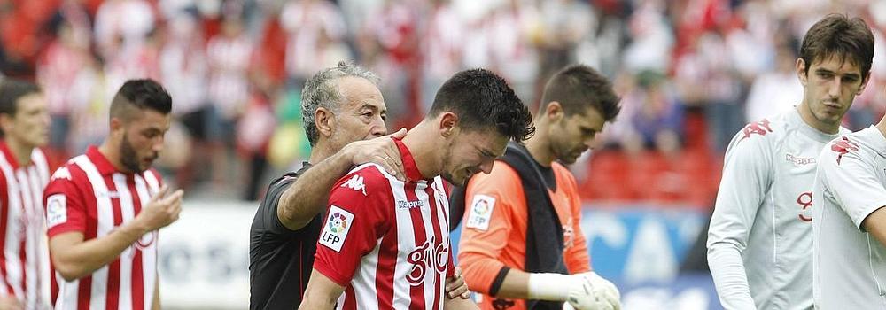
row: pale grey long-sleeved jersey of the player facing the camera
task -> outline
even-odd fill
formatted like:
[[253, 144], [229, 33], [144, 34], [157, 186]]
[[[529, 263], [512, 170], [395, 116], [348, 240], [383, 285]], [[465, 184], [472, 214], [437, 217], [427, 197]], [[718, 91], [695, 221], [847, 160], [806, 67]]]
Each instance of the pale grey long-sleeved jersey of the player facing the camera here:
[[812, 308], [812, 181], [836, 136], [795, 108], [750, 123], [729, 143], [707, 242], [727, 309]]

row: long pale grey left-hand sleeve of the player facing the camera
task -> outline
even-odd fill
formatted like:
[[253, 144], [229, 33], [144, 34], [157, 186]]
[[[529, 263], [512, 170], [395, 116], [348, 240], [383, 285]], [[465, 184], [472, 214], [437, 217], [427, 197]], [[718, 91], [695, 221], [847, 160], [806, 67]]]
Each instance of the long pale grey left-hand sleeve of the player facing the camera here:
[[742, 252], [771, 185], [773, 167], [767, 141], [772, 135], [750, 134], [755, 125], [759, 129], [761, 123], [748, 125], [729, 144], [708, 230], [708, 264], [720, 302], [727, 308], [754, 307]]

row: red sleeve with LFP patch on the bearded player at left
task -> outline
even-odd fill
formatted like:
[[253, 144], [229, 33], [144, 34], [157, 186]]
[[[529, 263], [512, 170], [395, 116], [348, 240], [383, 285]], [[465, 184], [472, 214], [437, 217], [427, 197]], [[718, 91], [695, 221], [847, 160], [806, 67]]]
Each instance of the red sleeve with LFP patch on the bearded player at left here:
[[85, 201], [68, 167], [60, 167], [52, 174], [43, 190], [43, 205], [50, 238], [71, 231], [86, 232]]

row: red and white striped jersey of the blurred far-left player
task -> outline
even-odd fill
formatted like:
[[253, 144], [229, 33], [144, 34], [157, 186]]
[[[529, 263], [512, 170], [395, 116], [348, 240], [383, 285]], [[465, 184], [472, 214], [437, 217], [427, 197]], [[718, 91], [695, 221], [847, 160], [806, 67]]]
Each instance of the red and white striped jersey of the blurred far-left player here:
[[26, 309], [49, 303], [49, 253], [43, 225], [43, 188], [49, 182], [43, 151], [19, 166], [0, 142], [0, 296], [15, 296]]

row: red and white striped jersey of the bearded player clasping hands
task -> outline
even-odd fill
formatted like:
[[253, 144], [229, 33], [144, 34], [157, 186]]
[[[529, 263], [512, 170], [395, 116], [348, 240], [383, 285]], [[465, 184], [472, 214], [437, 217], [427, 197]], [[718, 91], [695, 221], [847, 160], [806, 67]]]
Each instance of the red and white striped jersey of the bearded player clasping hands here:
[[[98, 148], [58, 168], [43, 195], [50, 238], [81, 232], [84, 240], [110, 234], [141, 211], [161, 185], [154, 170], [117, 171]], [[157, 281], [157, 231], [145, 234], [117, 260], [92, 275], [66, 282], [56, 273], [52, 299], [58, 310], [151, 309]]]

